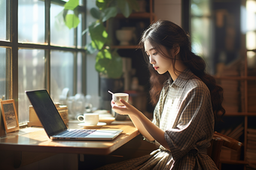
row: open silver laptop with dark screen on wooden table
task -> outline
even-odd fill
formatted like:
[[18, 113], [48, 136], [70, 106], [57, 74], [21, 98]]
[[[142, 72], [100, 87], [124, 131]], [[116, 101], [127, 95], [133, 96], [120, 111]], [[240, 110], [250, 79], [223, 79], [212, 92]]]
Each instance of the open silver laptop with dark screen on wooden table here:
[[25, 91], [47, 136], [64, 140], [113, 140], [123, 130], [68, 129], [47, 90]]

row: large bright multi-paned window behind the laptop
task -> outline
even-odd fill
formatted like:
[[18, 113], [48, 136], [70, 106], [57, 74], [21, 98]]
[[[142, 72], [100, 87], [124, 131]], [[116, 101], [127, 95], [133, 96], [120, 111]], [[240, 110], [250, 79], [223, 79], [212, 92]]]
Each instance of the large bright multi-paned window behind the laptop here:
[[65, 1], [0, 0], [0, 98], [16, 101], [20, 124], [29, 121], [25, 91], [46, 88], [55, 103], [64, 88], [69, 96], [86, 94], [82, 2], [81, 22], [69, 29], [58, 20]]

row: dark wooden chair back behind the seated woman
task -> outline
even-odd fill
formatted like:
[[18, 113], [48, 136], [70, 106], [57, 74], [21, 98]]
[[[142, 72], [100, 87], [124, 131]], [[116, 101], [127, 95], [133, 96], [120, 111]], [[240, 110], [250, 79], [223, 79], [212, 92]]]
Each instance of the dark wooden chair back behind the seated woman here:
[[222, 146], [239, 151], [242, 143], [236, 139], [230, 138], [229, 136], [215, 132], [212, 138], [211, 146], [207, 150], [207, 154], [212, 158], [217, 167], [220, 161]]

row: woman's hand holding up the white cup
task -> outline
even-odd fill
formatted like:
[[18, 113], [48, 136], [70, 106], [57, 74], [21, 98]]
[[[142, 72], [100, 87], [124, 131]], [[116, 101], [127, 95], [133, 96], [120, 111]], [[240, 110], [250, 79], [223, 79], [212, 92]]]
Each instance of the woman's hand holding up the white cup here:
[[123, 99], [120, 99], [120, 103], [123, 103], [124, 106], [117, 106], [114, 103], [114, 100], [111, 101], [111, 106], [114, 112], [119, 113], [120, 115], [138, 115], [140, 112], [134, 106], [130, 105], [130, 103], [126, 103]]

